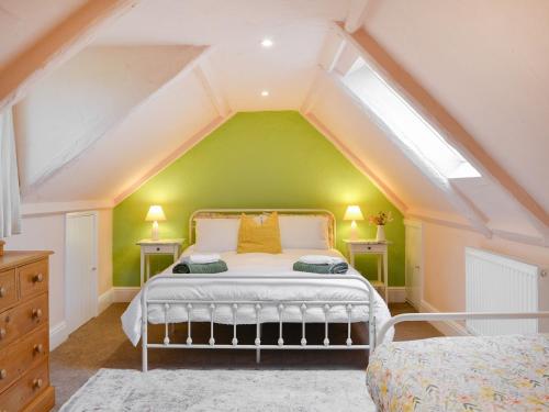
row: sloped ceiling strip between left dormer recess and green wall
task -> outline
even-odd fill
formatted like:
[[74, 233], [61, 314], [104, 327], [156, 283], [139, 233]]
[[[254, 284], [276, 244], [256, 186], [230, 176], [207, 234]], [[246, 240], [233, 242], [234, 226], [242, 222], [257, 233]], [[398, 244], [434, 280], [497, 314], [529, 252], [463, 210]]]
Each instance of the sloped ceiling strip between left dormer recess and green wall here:
[[[41, 185], [30, 201], [114, 199], [216, 116], [197, 76], [179, 76], [99, 140], [86, 156]], [[75, 176], [80, 177], [77, 182]]]

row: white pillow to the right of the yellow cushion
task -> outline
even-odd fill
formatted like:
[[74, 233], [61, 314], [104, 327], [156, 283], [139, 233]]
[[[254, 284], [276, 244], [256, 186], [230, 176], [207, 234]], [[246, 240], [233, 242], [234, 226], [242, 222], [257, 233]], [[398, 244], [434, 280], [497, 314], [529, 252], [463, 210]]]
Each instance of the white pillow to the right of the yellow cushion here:
[[328, 249], [328, 218], [279, 216], [283, 249]]

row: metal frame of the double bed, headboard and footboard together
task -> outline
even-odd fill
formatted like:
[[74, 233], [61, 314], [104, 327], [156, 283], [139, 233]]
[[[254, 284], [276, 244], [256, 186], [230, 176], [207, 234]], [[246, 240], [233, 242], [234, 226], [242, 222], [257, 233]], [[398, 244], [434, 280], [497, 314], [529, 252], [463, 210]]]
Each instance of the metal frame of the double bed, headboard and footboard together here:
[[[223, 216], [225, 214], [232, 214], [232, 215], [237, 215], [238, 213], [253, 213], [253, 214], [260, 214], [265, 212], [279, 212], [279, 213], [287, 213], [287, 214], [324, 214], [327, 215], [332, 222], [330, 226], [328, 227], [330, 233], [330, 244], [332, 246], [335, 243], [335, 234], [336, 234], [336, 222], [335, 218], [332, 212], [326, 211], [326, 210], [318, 210], [318, 209], [244, 209], [244, 210], [236, 210], [236, 209], [204, 209], [204, 210], [199, 210], [195, 211], [194, 213], [191, 214], [190, 221], [189, 221], [189, 240], [193, 240], [193, 230], [194, 230], [194, 219], [199, 215], [203, 214], [215, 214], [217, 216]], [[255, 275], [249, 275], [249, 274], [216, 274], [216, 279], [234, 279], [234, 280], [243, 280], [243, 279], [257, 279], [258, 276]], [[155, 349], [256, 349], [256, 361], [260, 361], [260, 354], [261, 349], [304, 349], [304, 350], [311, 350], [311, 349], [368, 349], [369, 354], [372, 353], [373, 348], [376, 347], [376, 313], [374, 313], [374, 290], [373, 287], [366, 280], [366, 279], [358, 279], [356, 280], [361, 281], [366, 289], [368, 290], [368, 299], [367, 300], [357, 300], [357, 301], [306, 301], [306, 300], [258, 300], [258, 301], [249, 301], [249, 300], [229, 300], [229, 301], [214, 301], [214, 300], [188, 300], [188, 299], [149, 299], [148, 292], [150, 287], [156, 285], [157, 282], [164, 280], [164, 279], [169, 279], [170, 282], [177, 282], [180, 280], [180, 283], [184, 283], [187, 280], [192, 280], [192, 279], [212, 279], [212, 275], [200, 275], [200, 274], [191, 274], [191, 275], [157, 275], [153, 277], [147, 283], [143, 286], [142, 289], [142, 367], [143, 371], [148, 370], [148, 349], [149, 348], [155, 348]], [[288, 279], [287, 275], [261, 275], [260, 279]], [[307, 279], [341, 279], [341, 280], [348, 280], [349, 277], [347, 275], [314, 275], [314, 274], [309, 274]], [[354, 278], [355, 279], [355, 278]], [[148, 329], [148, 305], [149, 304], [161, 304], [164, 307], [165, 311], [165, 337], [163, 343], [148, 343], [148, 334], [147, 334], [147, 329]], [[187, 323], [187, 339], [186, 343], [171, 343], [170, 339], [170, 332], [172, 332], [172, 327], [170, 325], [173, 325], [173, 323], [168, 322], [168, 310], [172, 305], [183, 305], [187, 310], [187, 322], [181, 322], [181, 323]], [[233, 313], [233, 339], [231, 344], [216, 344], [215, 343], [215, 336], [214, 336], [214, 315], [215, 315], [215, 310], [217, 305], [229, 305], [232, 309]], [[256, 338], [254, 341], [254, 344], [240, 344], [238, 342], [237, 335], [236, 335], [236, 326], [237, 326], [237, 312], [239, 308], [243, 307], [248, 307], [248, 308], [254, 308], [255, 313], [256, 313]], [[278, 311], [278, 318], [279, 318], [279, 337], [277, 341], [277, 344], [265, 344], [261, 341], [261, 311], [267, 308], [276, 308]], [[283, 337], [283, 324], [284, 323], [296, 323], [296, 322], [284, 322], [283, 316], [284, 316], [284, 311], [290, 308], [290, 307], [296, 307], [301, 311], [301, 325], [302, 325], [302, 337], [300, 345], [288, 345], [284, 344], [284, 337]], [[329, 324], [335, 324], [335, 323], [340, 323], [340, 322], [329, 322], [327, 313], [333, 307], [344, 307], [346, 312], [347, 312], [347, 338], [345, 342], [345, 345], [334, 345], [329, 342], [328, 337], [328, 329]], [[368, 344], [355, 344], [351, 339], [351, 324], [357, 323], [357, 322], [351, 322], [351, 313], [352, 309], [356, 307], [368, 307], [368, 321], [365, 322], [366, 326], [368, 327]], [[210, 310], [210, 339], [208, 341], [206, 344], [195, 344], [192, 339], [192, 311], [197, 308], [208, 308]], [[322, 308], [325, 313], [325, 321], [324, 321], [324, 341], [322, 345], [311, 345], [306, 341], [305, 336], [305, 331], [306, 331], [306, 322], [305, 316], [306, 316], [306, 311], [309, 308]], [[360, 322], [361, 323], [361, 322]]]

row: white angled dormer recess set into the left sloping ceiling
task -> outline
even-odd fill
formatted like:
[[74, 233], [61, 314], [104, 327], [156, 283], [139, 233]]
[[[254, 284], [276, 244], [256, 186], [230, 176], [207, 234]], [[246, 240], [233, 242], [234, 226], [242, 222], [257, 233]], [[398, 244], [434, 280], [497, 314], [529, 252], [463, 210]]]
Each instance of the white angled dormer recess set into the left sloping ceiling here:
[[203, 47], [91, 47], [41, 81], [15, 110], [23, 196], [78, 157]]

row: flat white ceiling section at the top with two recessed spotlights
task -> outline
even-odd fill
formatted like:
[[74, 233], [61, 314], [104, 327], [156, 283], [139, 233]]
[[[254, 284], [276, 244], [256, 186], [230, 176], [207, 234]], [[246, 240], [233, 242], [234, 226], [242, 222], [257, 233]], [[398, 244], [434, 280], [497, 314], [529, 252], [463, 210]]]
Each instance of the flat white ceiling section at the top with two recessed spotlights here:
[[[212, 65], [234, 111], [299, 109], [330, 22], [347, 8], [346, 0], [144, 1], [96, 42], [214, 45]], [[269, 49], [260, 47], [267, 37]]]

